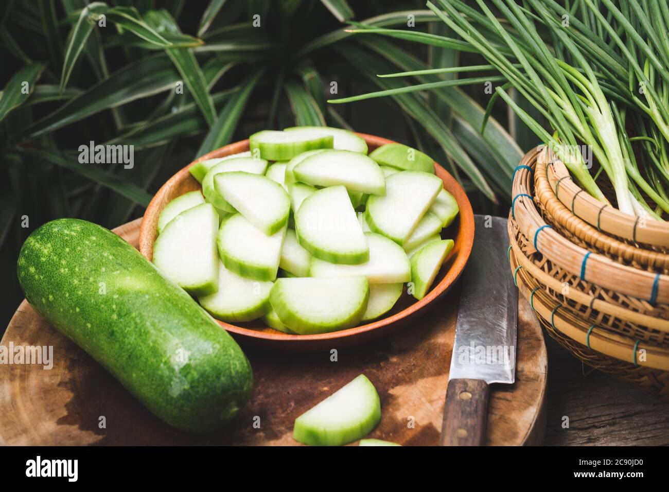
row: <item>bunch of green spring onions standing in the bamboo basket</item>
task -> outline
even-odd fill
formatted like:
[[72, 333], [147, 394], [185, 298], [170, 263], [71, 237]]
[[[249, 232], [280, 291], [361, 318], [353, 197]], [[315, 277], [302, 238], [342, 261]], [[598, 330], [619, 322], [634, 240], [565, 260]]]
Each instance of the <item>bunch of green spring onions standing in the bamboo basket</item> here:
[[[644, 0], [621, 0], [621, 10], [610, 0], [601, 0], [606, 12], [600, 2], [581, 0], [583, 17], [577, 19], [576, 11], [567, 11], [554, 0], [525, 0], [522, 5], [517, 0], [476, 0], [478, 11], [460, 0], [438, 3], [441, 9], [430, 2], [427, 7], [507, 78], [507, 84], [497, 89], [496, 96], [504, 99], [544, 143], [557, 149], [556, 155], [591, 195], [603, 199], [589, 172], [583, 172], [583, 164], [579, 159], [565, 160], [560, 145], [572, 147], [578, 141], [592, 149], [613, 184], [617, 207], [622, 212], [656, 219], [661, 218], [656, 211], [669, 214], [665, 191], [669, 182], [666, 5], [650, 7], [651, 2]], [[487, 5], [490, 3], [508, 25], [498, 21]], [[655, 14], [652, 17], [648, 15], [651, 10]], [[630, 15], [633, 11], [636, 16]], [[627, 17], [632, 17], [633, 22]], [[573, 20], [573, 24], [565, 29], [556, 20], [561, 18]], [[497, 39], [486, 45], [482, 29], [494, 31]], [[553, 46], [547, 46], [540, 31], [550, 34]], [[499, 42], [508, 50], [496, 50]], [[514, 66], [517, 62], [522, 68]], [[506, 96], [509, 86], [540, 110], [558, 139]], [[640, 114], [644, 122], [637, 131], [644, 139], [644, 154], [648, 154], [644, 161], [650, 163], [652, 171], [640, 166], [634, 155], [626, 131], [628, 110], [636, 113], [632, 121], [638, 120]], [[642, 193], [656, 203], [656, 210], [647, 205]]]

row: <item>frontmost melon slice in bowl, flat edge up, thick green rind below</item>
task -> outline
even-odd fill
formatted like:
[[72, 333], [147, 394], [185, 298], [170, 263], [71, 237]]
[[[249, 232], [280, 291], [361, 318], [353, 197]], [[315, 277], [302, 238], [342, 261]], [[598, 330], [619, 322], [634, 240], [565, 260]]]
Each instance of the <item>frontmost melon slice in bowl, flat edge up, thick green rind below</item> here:
[[284, 325], [306, 335], [356, 326], [368, 297], [364, 276], [277, 278], [270, 303]]

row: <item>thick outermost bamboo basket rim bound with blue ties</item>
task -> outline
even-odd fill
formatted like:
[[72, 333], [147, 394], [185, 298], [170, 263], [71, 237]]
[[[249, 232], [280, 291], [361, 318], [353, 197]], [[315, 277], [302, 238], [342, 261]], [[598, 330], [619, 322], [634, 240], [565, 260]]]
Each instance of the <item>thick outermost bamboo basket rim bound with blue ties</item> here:
[[[614, 262], [603, 254], [581, 248], [553, 230], [541, 218], [525, 183], [531, 183], [537, 157], [542, 147], [529, 151], [516, 167], [512, 184], [511, 215], [527, 238], [534, 238], [535, 248], [569, 272], [581, 272], [583, 280], [617, 291], [650, 305], [669, 304], [669, 275], [654, 274]], [[541, 234], [539, 234], [541, 232]], [[624, 281], [622, 281], [624, 280]]]

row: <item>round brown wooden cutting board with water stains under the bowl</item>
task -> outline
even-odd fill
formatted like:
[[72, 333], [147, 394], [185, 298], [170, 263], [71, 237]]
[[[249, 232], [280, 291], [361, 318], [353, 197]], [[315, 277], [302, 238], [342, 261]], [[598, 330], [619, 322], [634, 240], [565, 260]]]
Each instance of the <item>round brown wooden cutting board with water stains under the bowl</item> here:
[[[137, 246], [140, 220], [114, 230]], [[297, 444], [296, 417], [363, 373], [381, 397], [381, 424], [369, 435], [436, 445], [442, 428], [459, 289], [393, 335], [360, 347], [308, 353], [244, 347], [254, 369], [252, 400], [216, 434], [164, 424], [82, 349], [23, 301], [0, 345], [53, 347], [53, 367], [0, 364], [0, 444]], [[487, 444], [541, 444], [547, 355], [531, 308], [518, 299], [516, 382], [490, 391]], [[355, 444], [355, 443], [354, 443]]]

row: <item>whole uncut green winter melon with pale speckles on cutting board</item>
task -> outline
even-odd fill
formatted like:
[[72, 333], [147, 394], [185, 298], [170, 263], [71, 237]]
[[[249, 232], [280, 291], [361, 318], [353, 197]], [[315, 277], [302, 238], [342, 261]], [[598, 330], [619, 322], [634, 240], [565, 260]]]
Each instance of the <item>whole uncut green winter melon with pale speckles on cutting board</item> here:
[[250, 398], [239, 345], [113, 232], [48, 222], [23, 244], [17, 274], [37, 313], [168, 424], [219, 430]]

